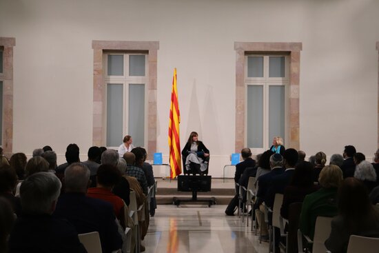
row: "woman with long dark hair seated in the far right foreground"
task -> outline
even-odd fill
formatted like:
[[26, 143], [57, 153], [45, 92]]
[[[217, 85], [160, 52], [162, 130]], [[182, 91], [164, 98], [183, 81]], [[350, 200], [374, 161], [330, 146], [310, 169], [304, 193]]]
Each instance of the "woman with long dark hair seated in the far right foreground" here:
[[[347, 178], [338, 190], [338, 216], [331, 221], [331, 232], [325, 247], [333, 253], [347, 252], [351, 234], [379, 238], [379, 211], [369, 201], [361, 181]], [[365, 250], [362, 248], [362, 252]]]

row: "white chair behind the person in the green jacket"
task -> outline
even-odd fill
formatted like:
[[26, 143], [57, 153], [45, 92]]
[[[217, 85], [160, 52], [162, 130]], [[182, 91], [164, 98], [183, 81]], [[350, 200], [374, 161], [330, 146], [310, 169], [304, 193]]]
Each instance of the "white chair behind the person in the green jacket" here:
[[298, 250], [299, 252], [303, 252], [303, 236], [307, 240], [308, 244], [312, 245], [312, 253], [325, 253], [327, 252], [327, 248], [324, 243], [328, 239], [328, 236], [331, 231], [331, 219], [332, 217], [323, 217], [318, 216], [316, 219], [316, 225], [314, 227], [314, 239], [313, 241], [306, 235], [298, 230]]

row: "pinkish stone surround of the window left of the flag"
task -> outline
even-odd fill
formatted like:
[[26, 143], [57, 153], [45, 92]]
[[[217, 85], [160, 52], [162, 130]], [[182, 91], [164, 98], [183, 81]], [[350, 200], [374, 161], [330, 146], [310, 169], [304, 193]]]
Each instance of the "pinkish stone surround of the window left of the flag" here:
[[158, 41], [92, 41], [94, 50], [94, 105], [92, 143], [105, 145], [105, 85], [103, 76], [103, 51], [121, 50], [125, 52], [148, 51], [149, 81], [147, 84], [147, 159], [156, 152], [156, 87]]

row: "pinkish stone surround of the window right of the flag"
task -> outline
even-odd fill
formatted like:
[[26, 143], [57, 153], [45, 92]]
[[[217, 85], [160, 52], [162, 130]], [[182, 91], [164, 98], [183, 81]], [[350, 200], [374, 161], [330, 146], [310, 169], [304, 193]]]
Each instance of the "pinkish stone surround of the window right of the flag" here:
[[[378, 44], [377, 44], [378, 48]], [[236, 139], [235, 152], [245, 148], [245, 54], [254, 52], [286, 52], [289, 54], [289, 138], [288, 148], [300, 149], [299, 124], [299, 86], [300, 86], [300, 51], [303, 43], [283, 42], [235, 42], [236, 50]], [[379, 105], [378, 105], [379, 108]]]

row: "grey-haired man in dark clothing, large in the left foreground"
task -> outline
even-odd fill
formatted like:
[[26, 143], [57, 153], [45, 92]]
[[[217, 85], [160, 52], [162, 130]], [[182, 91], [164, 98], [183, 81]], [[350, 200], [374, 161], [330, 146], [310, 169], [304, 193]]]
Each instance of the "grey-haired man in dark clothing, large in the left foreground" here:
[[50, 172], [38, 172], [23, 181], [23, 215], [10, 233], [10, 252], [87, 252], [75, 227], [52, 216], [60, 191], [61, 182]]

